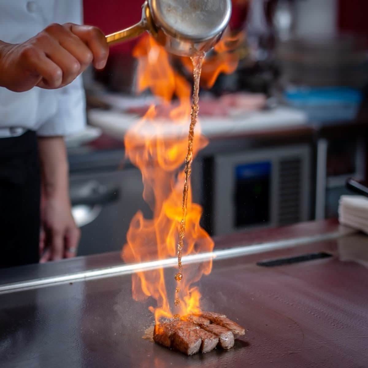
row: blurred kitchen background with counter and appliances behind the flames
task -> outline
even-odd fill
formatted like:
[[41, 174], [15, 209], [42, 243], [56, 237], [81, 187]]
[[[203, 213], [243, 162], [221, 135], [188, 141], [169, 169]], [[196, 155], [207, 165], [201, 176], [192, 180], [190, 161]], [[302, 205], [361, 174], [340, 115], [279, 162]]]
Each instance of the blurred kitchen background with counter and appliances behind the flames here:
[[[84, 1], [85, 23], [117, 31], [140, 20], [142, 2]], [[233, 4], [231, 28], [247, 34], [240, 63], [201, 92], [209, 145], [192, 185], [202, 224], [220, 235], [337, 217], [346, 179], [367, 181], [368, 2]], [[150, 216], [124, 155], [127, 128], [153, 100], [135, 94], [135, 42], [85, 73], [88, 128], [67, 139], [79, 255], [120, 250], [137, 210]]]

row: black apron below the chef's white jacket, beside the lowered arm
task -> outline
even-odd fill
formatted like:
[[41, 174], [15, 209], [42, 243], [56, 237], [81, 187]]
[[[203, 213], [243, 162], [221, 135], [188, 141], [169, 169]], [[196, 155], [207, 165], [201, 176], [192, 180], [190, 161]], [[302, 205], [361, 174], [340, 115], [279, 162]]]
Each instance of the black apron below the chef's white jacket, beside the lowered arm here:
[[0, 138], [0, 268], [38, 263], [39, 232], [36, 133]]

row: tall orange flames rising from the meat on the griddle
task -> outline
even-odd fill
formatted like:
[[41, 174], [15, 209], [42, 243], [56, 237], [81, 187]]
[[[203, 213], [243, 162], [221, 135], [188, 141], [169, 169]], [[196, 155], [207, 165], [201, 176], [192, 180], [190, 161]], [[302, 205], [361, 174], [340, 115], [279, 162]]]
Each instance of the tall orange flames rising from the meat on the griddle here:
[[[206, 85], [213, 84], [220, 72], [234, 71], [237, 65], [237, 61], [230, 57], [229, 66], [229, 53], [224, 43], [217, 47], [220, 48], [220, 57], [216, 58], [216, 62], [212, 60], [211, 64], [211, 60], [205, 61], [205, 65], [212, 65], [213, 70], [204, 75]], [[185, 178], [183, 163], [187, 155], [191, 112], [191, 84], [170, 65], [169, 55], [163, 47], [150, 36], [145, 36], [137, 43], [133, 55], [138, 60], [138, 91], [149, 88], [162, 103], [151, 106], [142, 120], [125, 135], [126, 155], [141, 170], [143, 197], [153, 214], [152, 219], [145, 219], [139, 211], [133, 217], [127, 244], [121, 252], [127, 263], [177, 256]], [[176, 102], [173, 103], [174, 98]], [[197, 124], [194, 156], [207, 143]], [[189, 188], [183, 256], [213, 250], [213, 241], [199, 225], [201, 215], [202, 208], [192, 202]], [[156, 322], [162, 317], [171, 318], [174, 313], [198, 311], [201, 294], [194, 284], [202, 275], [208, 275], [211, 269], [212, 261], [184, 269], [180, 303], [175, 311], [170, 306], [174, 301], [175, 280], [170, 278], [172, 285], [167, 285], [163, 268], [135, 273], [132, 276], [133, 298], [144, 300], [152, 297], [156, 300], [156, 306], [150, 307]]]

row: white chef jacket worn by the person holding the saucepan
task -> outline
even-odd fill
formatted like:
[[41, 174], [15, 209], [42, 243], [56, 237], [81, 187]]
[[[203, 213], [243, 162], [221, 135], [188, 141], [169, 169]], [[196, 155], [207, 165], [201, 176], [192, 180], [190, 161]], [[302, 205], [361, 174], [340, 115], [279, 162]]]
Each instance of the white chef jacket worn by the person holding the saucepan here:
[[[82, 23], [82, 0], [0, 0], [0, 40], [21, 43], [51, 23]], [[85, 95], [79, 76], [60, 89], [12, 92], [0, 87], [0, 138], [26, 130], [40, 136], [70, 135], [85, 127]]]

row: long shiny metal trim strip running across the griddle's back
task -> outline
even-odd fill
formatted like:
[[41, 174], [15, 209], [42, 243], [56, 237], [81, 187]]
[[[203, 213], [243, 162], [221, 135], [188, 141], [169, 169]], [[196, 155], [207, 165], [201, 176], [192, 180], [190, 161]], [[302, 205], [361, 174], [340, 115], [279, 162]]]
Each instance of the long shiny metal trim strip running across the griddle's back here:
[[[263, 253], [277, 249], [293, 248], [297, 247], [298, 245], [316, 243], [318, 241], [333, 240], [336, 238], [346, 236], [347, 234], [350, 234], [352, 232], [354, 232], [354, 230], [349, 231], [349, 229], [346, 229], [345, 231], [334, 231], [332, 233], [319, 234], [315, 236], [293, 238], [281, 241], [272, 241], [262, 244], [254, 244], [243, 247], [216, 250], [213, 252], [198, 253], [184, 256], [182, 261], [183, 264], [189, 264], [189, 263], [204, 262], [208, 261], [209, 259], [228, 259], [250, 254]], [[65, 284], [68, 282], [86, 281], [93, 279], [102, 279], [105, 277], [129, 275], [134, 272], [149, 271], [156, 268], [168, 268], [176, 265], [177, 265], [177, 258], [173, 257], [151, 262], [135, 263], [82, 272], [75, 272], [68, 275], [50, 276], [40, 279], [4, 284], [0, 286], [0, 294], [12, 293], [15, 291], [27, 289], [36, 289], [39, 287], [53, 286], [55, 284]]]

